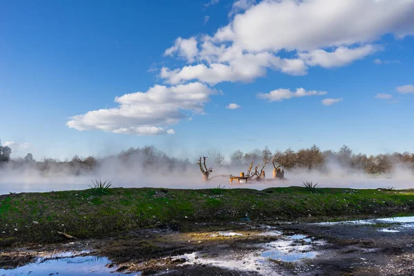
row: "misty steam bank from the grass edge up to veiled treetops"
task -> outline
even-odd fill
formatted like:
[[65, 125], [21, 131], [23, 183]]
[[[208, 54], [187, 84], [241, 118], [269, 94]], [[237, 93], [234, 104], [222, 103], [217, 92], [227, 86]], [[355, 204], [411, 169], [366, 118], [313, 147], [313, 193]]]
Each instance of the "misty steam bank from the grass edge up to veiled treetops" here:
[[[202, 153], [200, 155], [203, 155]], [[239, 175], [246, 172], [248, 164], [262, 163], [275, 157], [284, 164], [287, 179], [271, 179], [271, 161], [265, 168], [267, 181], [250, 181], [248, 184], [230, 186], [228, 177], [215, 177], [202, 181], [196, 160], [168, 157], [152, 146], [123, 151], [95, 159], [73, 157], [71, 161], [45, 159], [11, 159], [0, 163], [0, 195], [9, 192], [46, 192], [51, 190], [82, 190], [92, 185], [91, 179], [112, 181], [113, 187], [139, 188], [226, 188], [264, 189], [275, 186], [302, 186], [304, 181], [319, 183], [321, 187], [346, 188], [414, 188], [414, 155], [355, 155], [344, 146], [339, 152], [321, 152], [316, 146], [308, 149], [277, 151], [268, 148], [252, 152], [236, 151], [226, 161], [217, 150], [204, 152], [207, 166], [213, 175]], [[371, 166], [371, 167], [370, 167]], [[371, 173], [367, 173], [371, 172]], [[373, 172], [382, 172], [374, 174]]]

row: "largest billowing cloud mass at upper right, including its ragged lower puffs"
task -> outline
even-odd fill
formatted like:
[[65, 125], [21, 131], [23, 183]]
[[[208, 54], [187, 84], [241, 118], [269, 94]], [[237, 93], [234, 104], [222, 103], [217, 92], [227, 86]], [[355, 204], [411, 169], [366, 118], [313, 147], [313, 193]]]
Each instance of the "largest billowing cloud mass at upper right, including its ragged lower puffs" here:
[[[382, 50], [374, 42], [384, 34], [414, 34], [414, 0], [238, 0], [230, 14], [237, 12], [243, 13], [212, 36], [192, 40], [191, 51], [179, 50], [181, 40], [176, 41], [166, 52], [197, 64], [163, 68], [161, 78], [172, 84], [197, 80], [215, 85], [253, 81], [268, 69], [306, 75], [310, 66], [347, 66]], [[281, 58], [281, 51], [290, 58]]]

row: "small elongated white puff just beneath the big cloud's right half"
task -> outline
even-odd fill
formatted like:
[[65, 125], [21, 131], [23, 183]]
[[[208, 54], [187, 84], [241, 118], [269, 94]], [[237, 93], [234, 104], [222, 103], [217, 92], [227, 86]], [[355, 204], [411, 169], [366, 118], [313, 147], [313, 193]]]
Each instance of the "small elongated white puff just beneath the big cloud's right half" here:
[[380, 47], [373, 45], [365, 45], [358, 48], [339, 47], [333, 52], [325, 50], [314, 50], [308, 53], [299, 53], [299, 57], [304, 59], [308, 66], [322, 66], [324, 68], [332, 68], [346, 66], [357, 59], [363, 59], [367, 55], [371, 55]]

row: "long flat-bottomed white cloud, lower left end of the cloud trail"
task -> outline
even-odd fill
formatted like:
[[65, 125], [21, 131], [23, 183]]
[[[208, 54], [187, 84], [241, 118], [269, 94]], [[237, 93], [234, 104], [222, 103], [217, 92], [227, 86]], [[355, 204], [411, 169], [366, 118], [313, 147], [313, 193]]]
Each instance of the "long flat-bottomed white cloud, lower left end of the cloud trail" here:
[[165, 127], [187, 118], [182, 110], [201, 114], [204, 103], [215, 93], [216, 90], [198, 82], [170, 87], [155, 85], [147, 92], [116, 97], [117, 108], [89, 111], [72, 117], [66, 125], [77, 130], [122, 134], [173, 134], [174, 130]]

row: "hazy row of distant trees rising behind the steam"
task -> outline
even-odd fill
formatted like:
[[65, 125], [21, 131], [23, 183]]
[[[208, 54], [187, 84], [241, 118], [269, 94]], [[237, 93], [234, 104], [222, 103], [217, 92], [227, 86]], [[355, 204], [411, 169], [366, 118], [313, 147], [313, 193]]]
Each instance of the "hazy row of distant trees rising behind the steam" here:
[[[139, 168], [143, 171], [170, 173], [172, 171], [185, 172], [186, 170], [193, 170], [197, 167], [196, 160], [177, 159], [166, 155], [165, 152], [157, 150], [154, 146], [144, 146], [142, 148], [129, 148], [122, 150], [117, 155], [110, 155], [108, 157], [79, 157], [75, 155], [72, 159], [59, 161], [57, 159], [45, 158], [41, 161], [36, 161], [31, 153], [26, 157], [10, 159], [11, 149], [0, 146], [0, 163], [8, 161], [10, 168], [19, 168], [21, 166], [32, 166], [41, 171], [50, 170], [68, 170], [74, 175], [80, 175], [82, 172], [95, 170], [99, 166], [111, 164], [114, 160], [119, 161], [123, 168], [135, 169]], [[414, 170], [414, 154], [411, 152], [394, 152], [379, 155], [365, 155], [362, 153], [355, 153], [348, 146], [342, 146], [338, 151], [320, 150], [316, 145], [310, 148], [302, 148], [300, 150], [292, 150], [288, 148], [284, 151], [275, 150], [274, 152], [266, 146], [264, 149], [255, 149], [249, 152], [242, 152], [235, 150], [230, 154], [229, 159], [219, 152], [219, 150], [208, 151], [208, 166], [217, 168], [232, 168], [248, 166], [251, 162], [255, 164], [264, 161], [275, 161], [275, 163], [282, 165], [284, 170], [293, 170], [301, 168], [305, 170], [320, 170], [327, 171], [330, 166], [338, 165], [342, 168], [351, 170], [360, 170], [370, 174], [388, 173], [395, 168], [395, 166], [405, 166]]]

